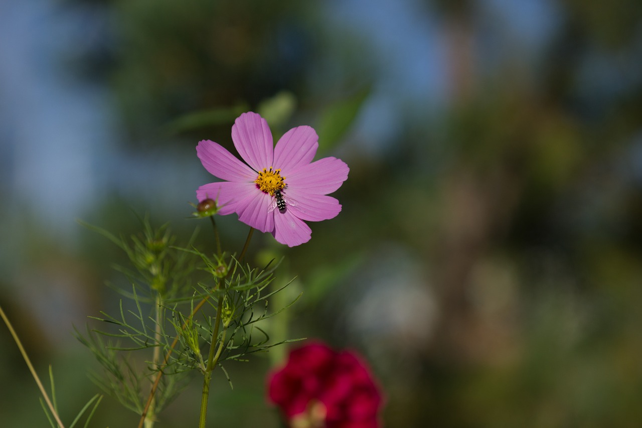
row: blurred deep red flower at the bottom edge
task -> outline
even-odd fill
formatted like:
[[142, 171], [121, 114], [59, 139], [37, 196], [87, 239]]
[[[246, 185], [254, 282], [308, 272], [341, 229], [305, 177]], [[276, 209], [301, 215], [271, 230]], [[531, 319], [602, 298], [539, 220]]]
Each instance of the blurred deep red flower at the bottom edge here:
[[367, 365], [323, 343], [292, 350], [268, 379], [268, 399], [292, 428], [378, 428], [383, 399]]

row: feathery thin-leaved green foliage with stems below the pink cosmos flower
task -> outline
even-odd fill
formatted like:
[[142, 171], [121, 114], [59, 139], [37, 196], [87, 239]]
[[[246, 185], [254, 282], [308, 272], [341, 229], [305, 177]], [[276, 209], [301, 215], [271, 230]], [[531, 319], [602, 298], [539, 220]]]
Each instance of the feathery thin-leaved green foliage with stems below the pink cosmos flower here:
[[261, 322], [298, 297], [285, 308], [270, 307], [270, 297], [288, 285], [269, 287], [279, 265], [273, 260], [250, 267], [234, 254], [196, 249], [194, 238], [178, 247], [167, 226], [142, 222], [143, 233], [128, 238], [88, 226], [126, 253], [129, 265], [114, 268], [130, 289], [110, 284], [121, 294], [116, 314], [101, 311], [90, 317], [100, 328], [76, 334], [100, 363], [92, 380], [126, 408], [153, 418], [193, 373], [220, 367], [229, 380], [224, 361], [289, 342], [271, 343]]

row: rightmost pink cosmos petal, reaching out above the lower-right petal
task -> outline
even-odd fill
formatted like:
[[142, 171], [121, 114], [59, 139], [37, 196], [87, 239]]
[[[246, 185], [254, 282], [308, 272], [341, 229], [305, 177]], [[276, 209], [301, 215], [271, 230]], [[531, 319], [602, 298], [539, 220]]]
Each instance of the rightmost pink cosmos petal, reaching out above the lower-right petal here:
[[286, 175], [288, 187], [305, 189], [309, 193], [327, 195], [341, 187], [350, 168], [341, 159], [324, 157]]

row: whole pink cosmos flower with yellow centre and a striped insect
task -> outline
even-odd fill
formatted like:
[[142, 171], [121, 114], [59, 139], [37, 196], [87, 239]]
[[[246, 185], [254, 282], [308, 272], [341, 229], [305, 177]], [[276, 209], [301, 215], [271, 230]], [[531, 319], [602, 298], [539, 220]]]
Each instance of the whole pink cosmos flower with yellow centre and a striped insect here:
[[290, 129], [274, 147], [266, 120], [247, 112], [234, 121], [232, 141], [247, 165], [213, 141], [196, 146], [205, 169], [225, 180], [200, 186], [198, 201], [216, 199], [221, 215], [237, 213], [241, 222], [290, 247], [309, 241], [305, 221], [328, 220], [341, 211], [327, 194], [347, 179], [349, 168], [335, 157], [311, 162], [318, 148], [311, 127]]

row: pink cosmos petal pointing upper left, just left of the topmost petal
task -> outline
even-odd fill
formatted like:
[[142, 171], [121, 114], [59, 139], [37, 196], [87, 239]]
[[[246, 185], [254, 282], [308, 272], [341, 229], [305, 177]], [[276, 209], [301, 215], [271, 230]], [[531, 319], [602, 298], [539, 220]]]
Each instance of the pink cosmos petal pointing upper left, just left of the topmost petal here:
[[196, 146], [196, 154], [205, 169], [214, 177], [227, 181], [254, 181], [256, 172], [239, 161], [226, 148], [204, 139]]

